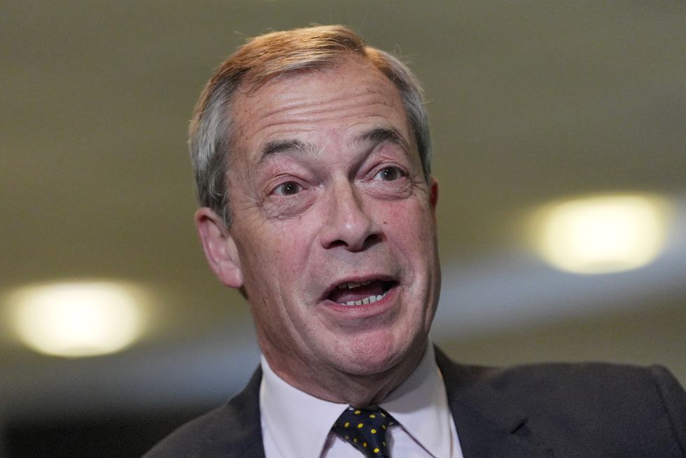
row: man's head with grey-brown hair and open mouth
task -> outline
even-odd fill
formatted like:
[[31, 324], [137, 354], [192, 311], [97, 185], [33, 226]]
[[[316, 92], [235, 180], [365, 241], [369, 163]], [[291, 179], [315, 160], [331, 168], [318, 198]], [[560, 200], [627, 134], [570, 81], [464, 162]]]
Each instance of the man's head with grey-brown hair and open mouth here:
[[205, 253], [276, 373], [330, 399], [346, 377], [406, 376], [440, 289], [409, 70], [344, 27], [261, 36], [210, 81], [190, 143]]

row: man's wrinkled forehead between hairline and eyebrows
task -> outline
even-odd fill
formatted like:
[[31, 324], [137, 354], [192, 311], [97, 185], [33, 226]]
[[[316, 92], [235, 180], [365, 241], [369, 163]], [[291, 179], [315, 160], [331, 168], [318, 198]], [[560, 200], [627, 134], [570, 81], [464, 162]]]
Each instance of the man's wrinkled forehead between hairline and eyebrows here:
[[234, 151], [254, 162], [270, 141], [318, 143], [355, 137], [370, 128], [412, 135], [395, 86], [359, 58], [327, 69], [270, 81], [232, 100]]

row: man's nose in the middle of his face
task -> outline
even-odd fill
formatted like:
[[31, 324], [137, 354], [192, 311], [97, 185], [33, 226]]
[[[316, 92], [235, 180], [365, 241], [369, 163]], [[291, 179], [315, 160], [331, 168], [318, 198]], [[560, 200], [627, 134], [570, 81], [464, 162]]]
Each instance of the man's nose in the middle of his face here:
[[381, 228], [365, 209], [363, 196], [354, 184], [341, 183], [331, 191], [325, 202], [328, 210], [321, 230], [322, 247], [362, 251], [378, 242]]

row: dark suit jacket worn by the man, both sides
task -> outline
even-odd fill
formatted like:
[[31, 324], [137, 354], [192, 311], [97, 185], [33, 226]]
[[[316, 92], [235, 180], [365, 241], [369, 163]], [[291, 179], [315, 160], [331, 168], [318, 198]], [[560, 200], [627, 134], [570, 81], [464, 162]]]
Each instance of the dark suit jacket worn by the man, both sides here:
[[[686, 457], [686, 394], [664, 368], [484, 368], [436, 355], [465, 458]], [[144, 458], [264, 458], [261, 377]]]

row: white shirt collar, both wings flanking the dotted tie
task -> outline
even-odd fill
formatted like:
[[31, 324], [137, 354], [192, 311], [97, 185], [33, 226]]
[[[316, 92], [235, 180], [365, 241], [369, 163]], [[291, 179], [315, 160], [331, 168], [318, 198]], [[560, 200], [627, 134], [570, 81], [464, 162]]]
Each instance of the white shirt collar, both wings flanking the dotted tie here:
[[[260, 362], [262, 422], [274, 445], [283, 457], [320, 457], [331, 426], [348, 405], [300, 391], [276, 375], [264, 356]], [[379, 405], [434, 457], [450, 456], [451, 414], [430, 342], [414, 372]]]

